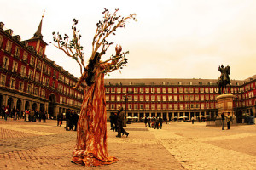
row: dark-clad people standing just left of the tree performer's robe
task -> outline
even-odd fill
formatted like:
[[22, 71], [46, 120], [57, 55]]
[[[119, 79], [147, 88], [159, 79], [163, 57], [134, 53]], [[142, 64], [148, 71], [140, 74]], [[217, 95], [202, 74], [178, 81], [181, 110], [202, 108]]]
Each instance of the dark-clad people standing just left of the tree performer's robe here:
[[[63, 113], [59, 113], [57, 115], [57, 126], [61, 127], [62, 121], [63, 121]], [[66, 130], [74, 130], [77, 131], [78, 127], [78, 121], [79, 121], [79, 115], [77, 112], [70, 111], [70, 109], [67, 110], [65, 114], [66, 118]], [[74, 127], [74, 128], [73, 128]]]

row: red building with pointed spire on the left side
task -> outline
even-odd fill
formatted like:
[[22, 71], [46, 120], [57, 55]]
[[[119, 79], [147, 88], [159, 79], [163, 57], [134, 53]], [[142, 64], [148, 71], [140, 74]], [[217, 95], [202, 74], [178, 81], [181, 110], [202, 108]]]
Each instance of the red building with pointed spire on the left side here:
[[[43, 18], [42, 18], [43, 20]], [[21, 41], [0, 22], [0, 105], [20, 111], [46, 111], [51, 116], [67, 109], [79, 111], [84, 84], [73, 89], [78, 78], [44, 54], [42, 20], [33, 37]]]

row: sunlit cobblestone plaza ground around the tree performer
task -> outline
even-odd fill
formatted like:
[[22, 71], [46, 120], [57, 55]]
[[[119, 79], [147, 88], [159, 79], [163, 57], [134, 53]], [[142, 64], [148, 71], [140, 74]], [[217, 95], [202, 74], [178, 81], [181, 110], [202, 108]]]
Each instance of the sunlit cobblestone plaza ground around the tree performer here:
[[56, 121], [0, 119], [0, 169], [256, 169], [256, 126], [206, 127], [171, 122], [163, 129], [132, 123], [129, 137], [116, 138], [108, 124], [109, 156], [117, 163], [82, 167], [70, 162], [76, 132]]

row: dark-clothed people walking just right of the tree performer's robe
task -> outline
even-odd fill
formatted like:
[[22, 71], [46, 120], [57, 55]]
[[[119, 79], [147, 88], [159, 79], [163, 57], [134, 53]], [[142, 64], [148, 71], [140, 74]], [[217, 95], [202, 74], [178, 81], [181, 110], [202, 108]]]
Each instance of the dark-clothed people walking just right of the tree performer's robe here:
[[129, 133], [127, 133], [124, 129], [124, 127], [126, 127], [126, 122], [125, 122], [125, 114], [124, 114], [124, 109], [122, 106], [119, 105], [118, 107], [118, 112], [117, 113], [112, 113], [109, 117], [110, 119], [110, 125], [111, 125], [111, 129], [114, 132], [118, 132], [118, 134], [116, 135], [117, 138], [121, 138], [121, 134], [122, 135], [126, 135], [126, 137], [128, 137]]

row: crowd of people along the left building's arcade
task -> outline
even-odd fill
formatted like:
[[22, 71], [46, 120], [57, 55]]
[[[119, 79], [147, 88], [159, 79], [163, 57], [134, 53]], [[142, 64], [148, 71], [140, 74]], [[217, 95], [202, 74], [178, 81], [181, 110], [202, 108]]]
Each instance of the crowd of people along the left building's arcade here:
[[13, 120], [24, 119], [26, 122], [41, 122], [43, 119], [43, 122], [46, 122], [47, 119], [47, 113], [44, 111], [38, 111], [38, 109], [19, 111], [19, 109], [15, 109], [15, 107], [10, 109], [9, 105], [1, 108], [1, 114], [2, 119], [4, 118], [5, 121], [9, 118], [13, 118]]

